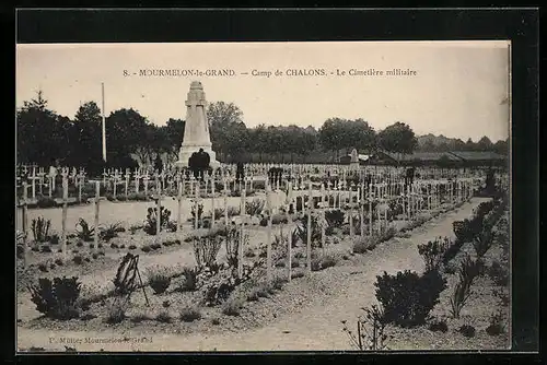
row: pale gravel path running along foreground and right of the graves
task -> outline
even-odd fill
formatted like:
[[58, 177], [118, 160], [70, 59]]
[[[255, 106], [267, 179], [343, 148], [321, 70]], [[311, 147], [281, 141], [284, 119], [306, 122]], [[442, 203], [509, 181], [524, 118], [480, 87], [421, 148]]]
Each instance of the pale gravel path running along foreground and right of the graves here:
[[[356, 266], [335, 267], [314, 273], [333, 275], [337, 279], [333, 282], [333, 287], [325, 291], [328, 299], [312, 301], [258, 329], [213, 335], [154, 334], [151, 338], [135, 332], [114, 333], [105, 330], [104, 332], [55, 331], [54, 333], [49, 330], [31, 330], [20, 327], [18, 328], [18, 344], [20, 349], [38, 346], [65, 350], [63, 345], [58, 342], [61, 337], [82, 342], [85, 338], [112, 340], [127, 337], [129, 341], [123, 343], [78, 343], [69, 346], [74, 346], [78, 351], [97, 351], [98, 349], [105, 351], [135, 351], [137, 349], [140, 351], [352, 350], [348, 338], [341, 331], [340, 321], [354, 322], [362, 311], [360, 308], [375, 302], [373, 283], [376, 275], [383, 271], [395, 273], [406, 269], [421, 272], [423, 261], [418, 254], [417, 245], [437, 236], [453, 236], [452, 222], [468, 217], [472, 210], [481, 201], [484, 200], [473, 199], [456, 211], [428, 222], [415, 229], [409, 238], [395, 238], [380, 245], [372, 252], [362, 256]], [[49, 337], [55, 338], [54, 343], [49, 343]], [[398, 344], [396, 349], [392, 349], [405, 350], [405, 345]]]

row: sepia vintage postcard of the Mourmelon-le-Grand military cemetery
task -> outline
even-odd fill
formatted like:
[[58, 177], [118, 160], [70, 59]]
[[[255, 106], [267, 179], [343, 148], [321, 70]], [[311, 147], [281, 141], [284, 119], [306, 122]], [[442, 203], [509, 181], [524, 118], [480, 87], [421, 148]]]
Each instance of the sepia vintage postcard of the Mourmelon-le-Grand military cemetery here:
[[510, 349], [510, 63], [18, 45], [18, 351]]

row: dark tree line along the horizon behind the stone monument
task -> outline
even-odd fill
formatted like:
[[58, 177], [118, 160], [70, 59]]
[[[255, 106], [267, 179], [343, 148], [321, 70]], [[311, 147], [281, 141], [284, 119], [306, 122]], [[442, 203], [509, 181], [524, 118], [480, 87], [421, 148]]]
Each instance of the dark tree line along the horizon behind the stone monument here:
[[[383, 130], [374, 130], [363, 119], [329, 118], [317, 130], [312, 126], [265, 126], [247, 128], [242, 110], [233, 103], [211, 103], [207, 110], [212, 149], [222, 161], [245, 158], [255, 153], [313, 155], [330, 151], [360, 153], [385, 150], [397, 153], [437, 151], [507, 151], [507, 140], [492, 143], [484, 137], [477, 143], [451, 140], [445, 145], [418, 143], [412, 129], [395, 122]], [[184, 138], [185, 120], [171, 118], [164, 126], [150, 122], [133, 108], [121, 108], [107, 116], [107, 165], [121, 167], [150, 164], [158, 154], [176, 161]], [[71, 119], [47, 106], [42, 91], [36, 98], [24, 102], [16, 113], [18, 163], [48, 166], [60, 163], [69, 166], [103, 166], [102, 115], [95, 102], [80, 106]], [[455, 142], [454, 142], [455, 141]]]

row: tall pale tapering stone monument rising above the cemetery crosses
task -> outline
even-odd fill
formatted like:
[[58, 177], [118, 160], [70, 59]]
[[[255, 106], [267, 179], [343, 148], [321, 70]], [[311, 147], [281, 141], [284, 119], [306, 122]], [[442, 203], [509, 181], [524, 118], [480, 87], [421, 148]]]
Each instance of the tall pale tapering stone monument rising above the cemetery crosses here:
[[193, 81], [186, 99], [186, 122], [184, 126], [183, 144], [178, 151], [177, 167], [188, 167], [188, 158], [194, 152], [203, 149], [211, 158], [211, 167], [217, 168], [220, 163], [212, 151], [209, 122], [206, 114], [206, 94], [199, 81]]

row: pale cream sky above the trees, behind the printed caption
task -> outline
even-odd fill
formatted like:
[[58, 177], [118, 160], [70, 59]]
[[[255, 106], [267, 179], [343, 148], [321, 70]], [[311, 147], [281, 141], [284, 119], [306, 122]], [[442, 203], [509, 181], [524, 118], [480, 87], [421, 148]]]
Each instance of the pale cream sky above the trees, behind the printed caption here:
[[[101, 107], [104, 83], [106, 116], [132, 107], [161, 126], [185, 119], [190, 82], [200, 81], [209, 103], [234, 103], [247, 127], [319, 128], [331, 117], [362, 118], [375, 130], [403, 121], [420, 136], [497, 141], [509, 136], [508, 47], [501, 40], [25, 44], [16, 46], [15, 102], [21, 107], [42, 90], [50, 109], [72, 118], [85, 102]], [[325, 74], [288, 72], [321, 69]], [[371, 69], [376, 75], [350, 75]], [[412, 75], [386, 75], [394, 69]], [[152, 70], [177, 73], [140, 75]]]

